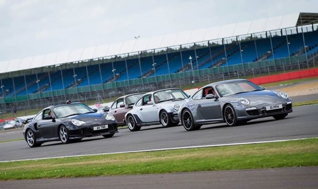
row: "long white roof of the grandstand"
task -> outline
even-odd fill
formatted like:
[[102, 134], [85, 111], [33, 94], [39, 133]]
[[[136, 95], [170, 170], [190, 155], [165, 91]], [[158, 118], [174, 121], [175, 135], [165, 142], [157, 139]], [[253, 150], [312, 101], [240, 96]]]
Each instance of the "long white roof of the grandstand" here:
[[280, 30], [318, 23], [318, 13], [294, 13], [277, 17], [238, 22], [206, 29], [143, 37], [134, 40], [100, 45], [76, 50], [67, 50], [0, 62], [0, 73], [32, 69], [37, 67], [72, 63], [100, 57], [115, 56], [151, 49], [191, 44], [201, 41], [217, 40], [232, 36]]

